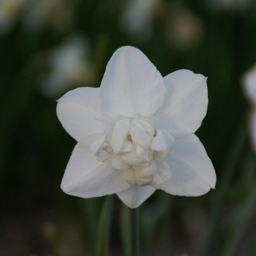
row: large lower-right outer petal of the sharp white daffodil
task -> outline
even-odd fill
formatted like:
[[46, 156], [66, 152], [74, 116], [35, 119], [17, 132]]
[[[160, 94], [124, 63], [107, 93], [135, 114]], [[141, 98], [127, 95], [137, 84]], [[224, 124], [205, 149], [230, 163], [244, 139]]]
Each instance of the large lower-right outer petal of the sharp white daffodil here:
[[165, 160], [172, 178], [155, 187], [178, 196], [200, 196], [215, 188], [214, 167], [196, 135], [175, 139], [172, 151]]

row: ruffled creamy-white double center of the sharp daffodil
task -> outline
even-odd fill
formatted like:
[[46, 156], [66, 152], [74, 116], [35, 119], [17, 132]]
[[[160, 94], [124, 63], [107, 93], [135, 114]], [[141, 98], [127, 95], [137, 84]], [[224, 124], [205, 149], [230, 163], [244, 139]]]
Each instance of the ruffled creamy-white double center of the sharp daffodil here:
[[135, 115], [101, 120], [105, 131], [90, 146], [97, 160], [110, 162], [113, 169], [124, 172], [131, 185], [161, 183], [156, 174], [156, 158], [170, 153], [173, 137], [155, 126], [154, 117]]

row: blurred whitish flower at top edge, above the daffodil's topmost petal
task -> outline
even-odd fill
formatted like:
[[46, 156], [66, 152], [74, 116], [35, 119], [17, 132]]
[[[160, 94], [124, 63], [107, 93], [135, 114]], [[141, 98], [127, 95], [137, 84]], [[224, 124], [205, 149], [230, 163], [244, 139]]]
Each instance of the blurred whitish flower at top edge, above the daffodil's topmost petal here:
[[152, 33], [154, 12], [160, 0], [130, 0], [124, 7], [120, 24], [132, 37], [147, 40]]

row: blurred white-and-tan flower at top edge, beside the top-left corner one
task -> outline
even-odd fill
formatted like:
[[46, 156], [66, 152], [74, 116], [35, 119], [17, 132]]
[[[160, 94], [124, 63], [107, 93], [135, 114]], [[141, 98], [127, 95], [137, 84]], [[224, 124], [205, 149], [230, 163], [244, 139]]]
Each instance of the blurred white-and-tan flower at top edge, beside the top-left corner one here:
[[31, 31], [40, 31], [50, 25], [55, 31], [63, 31], [74, 23], [76, 1], [30, 0], [24, 17], [24, 26]]

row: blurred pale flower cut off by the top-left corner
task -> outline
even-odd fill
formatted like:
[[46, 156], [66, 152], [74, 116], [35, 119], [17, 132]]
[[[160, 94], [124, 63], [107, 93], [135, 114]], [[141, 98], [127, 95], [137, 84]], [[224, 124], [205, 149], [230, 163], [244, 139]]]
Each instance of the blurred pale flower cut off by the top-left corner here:
[[12, 29], [26, 2], [26, 0], [0, 0], [0, 33], [4, 34]]

